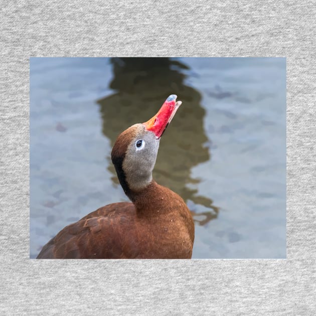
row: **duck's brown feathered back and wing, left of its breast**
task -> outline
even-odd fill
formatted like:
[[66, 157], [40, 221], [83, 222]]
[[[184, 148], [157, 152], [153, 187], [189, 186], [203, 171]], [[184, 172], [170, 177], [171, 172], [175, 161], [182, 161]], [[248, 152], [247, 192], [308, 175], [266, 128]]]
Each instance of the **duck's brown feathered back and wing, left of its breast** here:
[[[120, 235], [135, 218], [132, 203], [113, 203], [66, 226], [42, 249], [37, 259], [122, 258]], [[120, 223], [120, 224], [119, 224]]]

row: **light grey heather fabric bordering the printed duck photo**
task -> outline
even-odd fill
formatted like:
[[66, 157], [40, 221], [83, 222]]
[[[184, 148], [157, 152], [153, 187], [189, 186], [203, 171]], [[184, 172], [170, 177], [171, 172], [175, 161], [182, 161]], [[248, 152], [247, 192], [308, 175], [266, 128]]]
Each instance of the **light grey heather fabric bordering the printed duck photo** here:
[[[1, 315], [313, 315], [315, 2], [1, 4]], [[286, 260], [30, 260], [30, 56], [287, 57]]]

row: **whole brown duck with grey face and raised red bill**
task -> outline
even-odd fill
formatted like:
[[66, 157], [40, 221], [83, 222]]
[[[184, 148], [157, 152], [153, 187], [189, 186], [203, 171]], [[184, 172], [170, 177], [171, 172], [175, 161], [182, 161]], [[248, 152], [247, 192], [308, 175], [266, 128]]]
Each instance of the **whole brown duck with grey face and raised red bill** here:
[[161, 137], [181, 104], [172, 94], [152, 118], [118, 135], [111, 160], [130, 202], [108, 204], [66, 226], [37, 259], [192, 258], [190, 210], [177, 193], [152, 179]]

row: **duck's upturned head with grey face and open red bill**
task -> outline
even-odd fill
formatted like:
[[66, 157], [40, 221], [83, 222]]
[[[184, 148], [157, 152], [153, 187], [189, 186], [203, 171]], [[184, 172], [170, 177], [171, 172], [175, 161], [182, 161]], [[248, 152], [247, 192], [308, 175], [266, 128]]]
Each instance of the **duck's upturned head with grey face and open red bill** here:
[[176, 99], [177, 95], [170, 95], [156, 115], [130, 126], [117, 137], [111, 158], [125, 194], [142, 190], [152, 181], [160, 137], [182, 103]]

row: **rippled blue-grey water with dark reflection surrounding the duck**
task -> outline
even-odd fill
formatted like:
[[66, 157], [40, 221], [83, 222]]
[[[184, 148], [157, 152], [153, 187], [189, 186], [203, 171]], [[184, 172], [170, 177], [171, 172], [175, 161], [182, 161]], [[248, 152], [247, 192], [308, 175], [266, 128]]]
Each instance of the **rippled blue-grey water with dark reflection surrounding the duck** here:
[[193, 258], [286, 257], [285, 74], [284, 58], [31, 58], [30, 257], [127, 200], [111, 147], [170, 94], [153, 177], [194, 215]]

